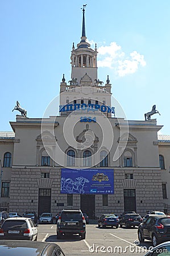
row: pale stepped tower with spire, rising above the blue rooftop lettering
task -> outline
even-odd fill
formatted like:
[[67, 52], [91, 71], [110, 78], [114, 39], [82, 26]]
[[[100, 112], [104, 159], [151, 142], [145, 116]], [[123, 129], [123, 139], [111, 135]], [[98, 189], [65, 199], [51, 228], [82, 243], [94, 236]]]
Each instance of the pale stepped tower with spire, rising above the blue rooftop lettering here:
[[[90, 48], [86, 42], [85, 33], [85, 6], [82, 8], [82, 36], [77, 48], [72, 48], [71, 64], [72, 74], [69, 85], [65, 82], [63, 75], [60, 84], [60, 112], [61, 115], [67, 115], [73, 110], [80, 108], [81, 104], [90, 104], [91, 108], [97, 108], [94, 105], [111, 106], [111, 84], [107, 76], [106, 84], [97, 78], [97, 48]], [[73, 104], [74, 106], [70, 106]], [[78, 105], [77, 105], [78, 104]], [[62, 106], [65, 106], [62, 108]], [[104, 108], [102, 106], [102, 108]], [[63, 109], [63, 110], [62, 110]], [[82, 110], [83, 113], [84, 110]], [[111, 117], [111, 113], [107, 114]]]

